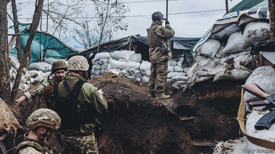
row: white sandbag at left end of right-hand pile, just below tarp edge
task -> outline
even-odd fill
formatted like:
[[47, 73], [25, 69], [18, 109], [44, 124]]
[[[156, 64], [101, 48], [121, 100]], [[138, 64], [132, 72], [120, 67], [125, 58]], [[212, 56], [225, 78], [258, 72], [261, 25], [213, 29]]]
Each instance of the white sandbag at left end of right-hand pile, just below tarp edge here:
[[203, 44], [197, 47], [196, 52], [214, 58], [220, 46], [220, 41], [208, 38]]

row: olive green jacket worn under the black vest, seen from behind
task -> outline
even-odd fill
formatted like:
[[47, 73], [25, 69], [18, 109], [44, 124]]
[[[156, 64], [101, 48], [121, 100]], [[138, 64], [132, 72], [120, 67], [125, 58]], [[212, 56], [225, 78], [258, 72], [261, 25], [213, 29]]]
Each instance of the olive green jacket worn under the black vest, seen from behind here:
[[[91, 104], [90, 105], [91, 110], [94, 112], [95, 115], [106, 113], [108, 108], [107, 101], [97, 91], [97, 89], [92, 84], [90, 84], [87, 80], [77, 75], [66, 75], [64, 80], [67, 80], [68, 86], [71, 89], [71, 91], [78, 80], [85, 81], [86, 83], [84, 83], [82, 88], [80, 89], [79, 96], [77, 99], [78, 102], [83, 104], [83, 106], [85, 107]], [[58, 85], [58, 95], [61, 98], [66, 98], [70, 96], [68, 91], [65, 89], [63, 82], [60, 82]], [[77, 107], [78, 107], [77, 110], [81, 111], [81, 107], [79, 105], [77, 105]], [[60, 115], [60, 113], [57, 113], [57, 114]], [[64, 121], [62, 121], [62, 123], [63, 122]], [[93, 123], [90, 123], [90, 124], [81, 124], [81, 127], [79, 127], [79, 129], [75, 129], [75, 130], [59, 129], [58, 131], [62, 135], [67, 135], [67, 136], [88, 136], [88, 135], [92, 135], [94, 131], [94, 127], [95, 125]]]

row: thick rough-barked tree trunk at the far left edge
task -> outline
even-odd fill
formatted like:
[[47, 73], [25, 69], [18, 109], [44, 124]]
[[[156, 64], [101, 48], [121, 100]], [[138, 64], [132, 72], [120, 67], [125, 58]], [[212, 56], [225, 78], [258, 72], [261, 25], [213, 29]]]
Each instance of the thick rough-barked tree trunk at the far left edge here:
[[5, 103], [11, 103], [10, 80], [9, 80], [9, 43], [8, 43], [8, 21], [7, 0], [0, 1], [0, 98]]

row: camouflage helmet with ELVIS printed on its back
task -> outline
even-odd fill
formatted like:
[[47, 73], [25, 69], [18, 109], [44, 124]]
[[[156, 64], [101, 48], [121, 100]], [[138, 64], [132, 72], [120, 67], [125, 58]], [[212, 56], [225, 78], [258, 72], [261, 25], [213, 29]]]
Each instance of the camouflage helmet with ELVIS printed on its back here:
[[57, 130], [60, 128], [61, 119], [55, 111], [42, 108], [35, 110], [28, 117], [26, 124], [31, 129], [44, 126], [52, 130]]

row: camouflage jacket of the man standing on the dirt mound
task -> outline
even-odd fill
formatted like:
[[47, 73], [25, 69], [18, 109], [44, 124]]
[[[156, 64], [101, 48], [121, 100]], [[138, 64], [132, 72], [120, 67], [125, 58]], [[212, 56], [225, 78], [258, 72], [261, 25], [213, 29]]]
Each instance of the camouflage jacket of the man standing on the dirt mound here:
[[165, 59], [172, 59], [172, 53], [166, 54], [161, 53], [161, 44], [170, 43], [170, 38], [174, 37], [175, 32], [169, 24], [165, 27], [161, 26], [160, 23], [153, 22], [148, 30], [147, 44], [149, 45], [149, 56], [152, 64], [158, 63]]

